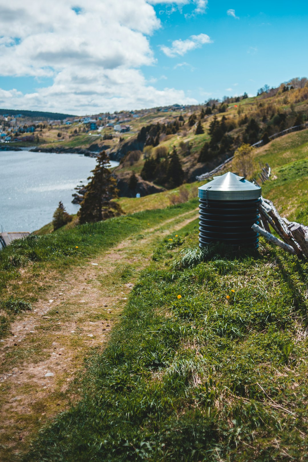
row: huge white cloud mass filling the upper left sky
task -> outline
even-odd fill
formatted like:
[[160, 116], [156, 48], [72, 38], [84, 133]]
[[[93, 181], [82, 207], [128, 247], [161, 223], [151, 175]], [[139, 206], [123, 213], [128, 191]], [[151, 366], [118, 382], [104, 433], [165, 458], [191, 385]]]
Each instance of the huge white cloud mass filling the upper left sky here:
[[148, 36], [160, 26], [146, 0], [7, 2], [0, 75], [54, 81], [28, 94], [0, 90], [0, 106], [85, 114], [195, 103], [181, 90], [158, 91], [139, 70], [155, 64]]

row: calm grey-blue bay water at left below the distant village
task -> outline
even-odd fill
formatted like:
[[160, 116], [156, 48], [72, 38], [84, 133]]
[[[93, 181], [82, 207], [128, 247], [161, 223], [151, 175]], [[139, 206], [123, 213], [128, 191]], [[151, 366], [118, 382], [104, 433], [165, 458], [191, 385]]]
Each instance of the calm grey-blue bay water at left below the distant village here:
[[0, 151], [0, 230], [35, 231], [52, 220], [59, 201], [77, 213], [74, 188], [87, 183], [95, 165], [79, 154]]

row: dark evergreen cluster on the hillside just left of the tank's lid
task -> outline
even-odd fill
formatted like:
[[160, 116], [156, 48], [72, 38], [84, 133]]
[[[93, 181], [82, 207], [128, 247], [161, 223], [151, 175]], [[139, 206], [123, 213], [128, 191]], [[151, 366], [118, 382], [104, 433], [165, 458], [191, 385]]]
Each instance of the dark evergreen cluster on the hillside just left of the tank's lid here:
[[155, 157], [146, 159], [140, 176], [146, 181], [155, 181], [169, 189], [180, 186], [184, 180], [184, 171], [175, 146], [169, 156], [161, 157], [160, 153], [156, 152]]

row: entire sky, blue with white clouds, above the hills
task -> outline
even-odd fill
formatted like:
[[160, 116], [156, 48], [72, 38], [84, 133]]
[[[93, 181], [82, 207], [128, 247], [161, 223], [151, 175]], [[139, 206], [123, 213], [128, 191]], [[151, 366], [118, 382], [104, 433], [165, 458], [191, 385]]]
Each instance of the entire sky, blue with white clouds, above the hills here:
[[74, 114], [255, 95], [308, 76], [308, 2], [12, 0], [0, 107]]

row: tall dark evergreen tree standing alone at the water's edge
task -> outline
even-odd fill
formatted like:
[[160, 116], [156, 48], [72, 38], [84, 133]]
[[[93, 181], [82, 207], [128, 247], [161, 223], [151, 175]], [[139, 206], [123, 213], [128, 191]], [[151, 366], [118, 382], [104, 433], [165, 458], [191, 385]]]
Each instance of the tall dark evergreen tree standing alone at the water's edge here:
[[121, 207], [112, 199], [118, 197], [116, 180], [108, 169], [109, 158], [105, 151], [97, 156], [97, 165], [90, 182], [85, 186], [85, 195], [78, 212], [79, 223], [101, 221], [104, 218], [121, 213]]

